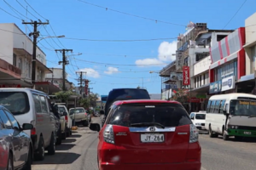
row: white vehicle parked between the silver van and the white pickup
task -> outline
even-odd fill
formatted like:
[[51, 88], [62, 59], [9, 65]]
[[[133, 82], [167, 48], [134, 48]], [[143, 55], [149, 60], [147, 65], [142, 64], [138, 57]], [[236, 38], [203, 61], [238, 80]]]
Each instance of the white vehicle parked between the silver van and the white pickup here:
[[65, 123], [63, 123], [63, 132], [62, 133], [62, 139], [66, 139], [67, 137], [69, 137], [70, 135], [72, 135], [72, 119], [67, 111], [67, 107], [61, 104], [56, 104], [58, 105], [59, 111], [61, 113], [61, 118], [63, 118], [63, 121]]

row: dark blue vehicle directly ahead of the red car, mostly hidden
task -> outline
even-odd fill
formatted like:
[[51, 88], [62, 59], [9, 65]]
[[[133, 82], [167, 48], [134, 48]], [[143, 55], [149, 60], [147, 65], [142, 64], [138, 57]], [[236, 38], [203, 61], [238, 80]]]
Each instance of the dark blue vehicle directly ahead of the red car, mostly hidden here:
[[143, 88], [114, 88], [108, 94], [105, 105], [105, 117], [102, 118], [102, 126], [110, 111], [110, 105], [112, 105], [114, 101], [127, 99], [150, 99], [150, 96], [148, 91]]

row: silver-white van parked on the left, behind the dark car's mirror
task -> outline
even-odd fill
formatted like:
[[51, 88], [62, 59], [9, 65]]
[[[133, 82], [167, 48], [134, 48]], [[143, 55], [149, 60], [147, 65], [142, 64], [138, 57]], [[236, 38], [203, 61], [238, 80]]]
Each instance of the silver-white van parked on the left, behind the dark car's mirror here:
[[34, 158], [44, 160], [44, 150], [55, 154], [55, 116], [47, 94], [31, 88], [0, 88], [0, 105], [6, 107], [17, 121], [32, 123], [26, 130], [33, 143]]

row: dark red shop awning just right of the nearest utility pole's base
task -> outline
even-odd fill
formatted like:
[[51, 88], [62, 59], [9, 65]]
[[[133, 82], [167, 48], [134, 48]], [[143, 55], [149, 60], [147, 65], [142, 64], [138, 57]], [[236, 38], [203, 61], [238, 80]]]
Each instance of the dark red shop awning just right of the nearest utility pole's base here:
[[55, 93], [61, 91], [60, 88], [56, 87], [51, 82], [36, 82], [35, 88], [39, 91], [46, 93], [46, 94], [55, 94]]

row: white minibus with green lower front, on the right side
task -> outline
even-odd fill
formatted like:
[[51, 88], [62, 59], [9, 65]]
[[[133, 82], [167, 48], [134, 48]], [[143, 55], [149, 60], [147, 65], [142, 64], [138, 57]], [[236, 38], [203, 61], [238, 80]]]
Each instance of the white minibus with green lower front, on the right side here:
[[207, 105], [206, 129], [211, 138], [218, 134], [224, 140], [230, 136], [240, 140], [256, 137], [256, 95], [219, 94], [212, 96]]

